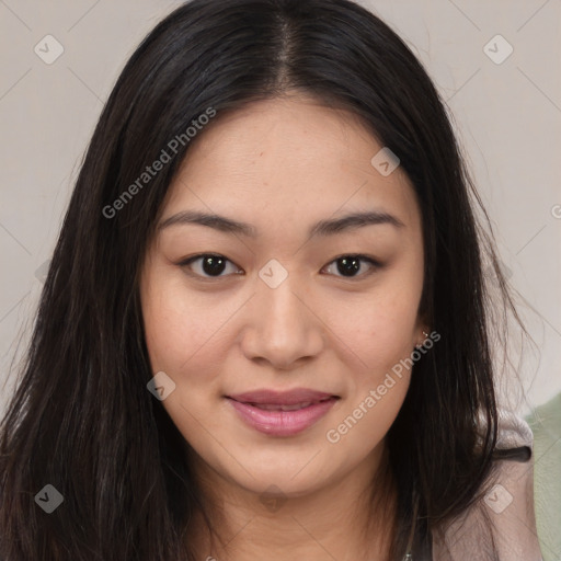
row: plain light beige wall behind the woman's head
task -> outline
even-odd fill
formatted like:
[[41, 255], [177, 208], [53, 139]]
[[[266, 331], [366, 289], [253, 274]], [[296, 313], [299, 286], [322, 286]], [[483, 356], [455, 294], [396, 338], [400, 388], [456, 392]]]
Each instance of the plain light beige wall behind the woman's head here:
[[[0, 0], [0, 414], [103, 104], [138, 43], [180, 3]], [[561, 3], [362, 3], [411, 47], [454, 115], [540, 351], [520, 373], [527, 412], [561, 391]], [[50, 65], [34, 50], [55, 53], [47, 35], [64, 48]]]

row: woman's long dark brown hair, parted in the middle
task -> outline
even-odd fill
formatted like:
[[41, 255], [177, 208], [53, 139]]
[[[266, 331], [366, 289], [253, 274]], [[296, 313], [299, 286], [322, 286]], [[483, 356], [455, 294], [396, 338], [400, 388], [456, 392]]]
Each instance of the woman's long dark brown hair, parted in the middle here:
[[[412, 551], [424, 556], [432, 533], [481, 496], [497, 427], [491, 300], [522, 323], [445, 103], [397, 34], [348, 0], [194, 0], [130, 57], [88, 147], [0, 426], [2, 561], [195, 559], [184, 533], [204, 501], [184, 438], [147, 391], [139, 267], [193, 121], [288, 90], [356, 114], [399, 157], [422, 210], [419, 311], [442, 339], [415, 364], [387, 435], [392, 558], [415, 497]], [[171, 161], [123, 197], [164, 149]], [[64, 496], [51, 514], [35, 502], [46, 484]]]

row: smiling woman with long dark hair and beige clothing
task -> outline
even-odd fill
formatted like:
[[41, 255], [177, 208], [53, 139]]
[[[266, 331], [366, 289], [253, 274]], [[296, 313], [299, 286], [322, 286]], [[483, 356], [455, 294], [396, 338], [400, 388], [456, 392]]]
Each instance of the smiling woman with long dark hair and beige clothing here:
[[371, 13], [175, 10], [61, 229], [2, 424], [1, 559], [538, 561], [485, 257], [517, 316], [470, 195]]

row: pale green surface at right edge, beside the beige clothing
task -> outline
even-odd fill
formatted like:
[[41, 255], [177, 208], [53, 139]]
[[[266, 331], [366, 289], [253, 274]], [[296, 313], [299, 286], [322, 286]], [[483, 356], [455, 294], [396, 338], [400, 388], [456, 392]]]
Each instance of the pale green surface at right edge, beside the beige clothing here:
[[543, 561], [561, 561], [561, 393], [526, 416], [534, 433], [534, 504]]

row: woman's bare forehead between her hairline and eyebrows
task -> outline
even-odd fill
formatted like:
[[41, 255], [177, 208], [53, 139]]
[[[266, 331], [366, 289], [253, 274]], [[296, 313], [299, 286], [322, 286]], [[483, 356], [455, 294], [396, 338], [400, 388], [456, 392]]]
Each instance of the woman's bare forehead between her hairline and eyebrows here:
[[163, 217], [185, 209], [233, 215], [259, 233], [376, 208], [419, 227], [405, 173], [398, 167], [385, 176], [371, 163], [382, 148], [353, 113], [300, 95], [218, 113], [190, 146]]

